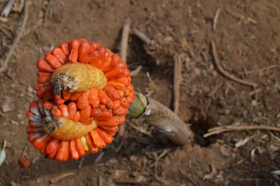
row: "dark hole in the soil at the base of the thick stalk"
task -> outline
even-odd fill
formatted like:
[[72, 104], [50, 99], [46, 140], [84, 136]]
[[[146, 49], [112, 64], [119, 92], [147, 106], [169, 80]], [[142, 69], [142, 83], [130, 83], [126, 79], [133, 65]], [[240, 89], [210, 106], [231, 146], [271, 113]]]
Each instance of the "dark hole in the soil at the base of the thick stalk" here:
[[193, 133], [195, 134], [195, 141], [198, 143], [201, 147], [208, 147], [212, 143], [216, 142], [217, 136], [209, 136], [207, 138], [204, 138], [203, 135], [207, 133], [207, 131], [213, 127], [213, 122], [211, 122], [211, 119], [207, 119], [207, 121], [196, 121], [192, 122], [191, 129]]

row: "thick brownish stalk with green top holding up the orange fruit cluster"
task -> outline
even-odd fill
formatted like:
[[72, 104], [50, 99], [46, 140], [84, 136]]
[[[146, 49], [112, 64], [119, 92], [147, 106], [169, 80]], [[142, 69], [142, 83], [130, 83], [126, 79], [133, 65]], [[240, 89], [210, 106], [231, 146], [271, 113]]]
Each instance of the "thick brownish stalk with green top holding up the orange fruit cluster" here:
[[194, 139], [190, 124], [186, 124], [160, 102], [141, 93], [136, 94], [133, 104], [129, 107], [128, 115], [136, 118], [136, 123], [144, 122], [155, 127], [178, 145], [191, 143]]

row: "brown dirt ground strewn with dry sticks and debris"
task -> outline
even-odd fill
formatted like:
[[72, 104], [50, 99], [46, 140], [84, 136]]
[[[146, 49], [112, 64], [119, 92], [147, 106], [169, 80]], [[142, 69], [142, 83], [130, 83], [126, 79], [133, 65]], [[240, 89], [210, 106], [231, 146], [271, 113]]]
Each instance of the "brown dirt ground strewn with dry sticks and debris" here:
[[[0, 21], [0, 65], [24, 17], [24, 11], [17, 10], [20, 2], [15, 1], [6, 22]], [[0, 1], [1, 11], [6, 3]], [[7, 141], [0, 185], [49, 185], [51, 178], [64, 173], [73, 175], [55, 185], [279, 185], [270, 174], [280, 170], [279, 133], [232, 131], [202, 137], [209, 128], [225, 125], [280, 127], [278, 0], [53, 0], [46, 14], [48, 3], [31, 1], [24, 35], [8, 70], [0, 74], [0, 147]], [[218, 8], [222, 9], [213, 30]], [[171, 109], [173, 55], [175, 51], [181, 54], [179, 116], [192, 123], [196, 142], [176, 146], [166, 140], [152, 140], [132, 128], [128, 118], [124, 138], [116, 136], [106, 149], [87, 156], [80, 169], [79, 161], [59, 163], [44, 159], [27, 141], [25, 132], [25, 113], [29, 103], [37, 99], [32, 87], [37, 84], [38, 58], [45, 50], [80, 37], [118, 53], [122, 25], [127, 18], [132, 21], [131, 27], [159, 44], [148, 54], [143, 41], [130, 35], [129, 69], [143, 66], [132, 83], [144, 93], [154, 89], [151, 97]], [[257, 83], [256, 88], [221, 74], [213, 60], [211, 40], [216, 43], [223, 69]], [[262, 69], [270, 65], [275, 66]], [[155, 133], [146, 124], [142, 127]], [[236, 148], [235, 143], [246, 137], [249, 141]], [[157, 166], [158, 179], [155, 161], [163, 152], [166, 154]], [[29, 168], [20, 166], [18, 158], [22, 153], [31, 161]]]

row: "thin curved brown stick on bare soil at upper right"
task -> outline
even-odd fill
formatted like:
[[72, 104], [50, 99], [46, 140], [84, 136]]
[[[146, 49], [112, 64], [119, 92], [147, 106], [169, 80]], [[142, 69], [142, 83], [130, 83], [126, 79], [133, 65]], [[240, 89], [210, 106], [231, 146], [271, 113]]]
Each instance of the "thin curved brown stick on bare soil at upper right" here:
[[233, 80], [233, 81], [237, 81], [241, 84], [245, 84], [245, 85], [249, 85], [249, 86], [252, 86], [253, 88], [256, 88], [258, 86], [258, 84], [256, 83], [252, 83], [252, 82], [249, 82], [249, 81], [245, 81], [245, 80], [242, 80], [242, 79], [239, 79], [237, 77], [235, 77], [234, 75], [228, 73], [227, 71], [225, 71], [223, 69], [223, 67], [221, 66], [220, 64], [220, 61], [218, 59], [218, 55], [217, 55], [217, 51], [216, 51], [216, 45], [215, 45], [215, 42], [212, 40], [211, 41], [211, 46], [212, 46], [212, 53], [213, 53], [213, 57], [214, 57], [214, 61], [218, 67], [218, 70], [226, 77], [228, 77], [229, 79]]

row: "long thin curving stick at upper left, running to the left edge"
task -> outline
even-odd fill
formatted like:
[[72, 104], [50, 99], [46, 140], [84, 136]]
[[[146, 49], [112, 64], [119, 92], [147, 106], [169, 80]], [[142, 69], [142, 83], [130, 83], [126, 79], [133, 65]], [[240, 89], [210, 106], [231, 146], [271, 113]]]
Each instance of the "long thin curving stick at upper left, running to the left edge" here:
[[27, 1], [27, 2], [25, 3], [25, 8], [24, 8], [24, 14], [25, 14], [25, 15], [24, 15], [23, 23], [22, 23], [22, 25], [21, 25], [21, 27], [20, 27], [20, 32], [18, 33], [18, 35], [17, 35], [17, 37], [16, 37], [16, 39], [15, 39], [15, 41], [14, 41], [14, 43], [13, 43], [12, 48], [10, 49], [10, 51], [9, 51], [9, 53], [8, 53], [8, 55], [7, 55], [7, 57], [6, 57], [5, 61], [4, 61], [4, 63], [3, 63], [3, 65], [2, 65], [1, 68], [0, 68], [0, 73], [3, 72], [3, 71], [5, 71], [5, 70], [7, 69], [7, 67], [8, 67], [8, 62], [9, 62], [9, 60], [10, 60], [12, 54], [13, 54], [13, 51], [15, 50], [15, 48], [16, 48], [16, 46], [17, 46], [19, 40], [20, 40], [20, 37], [22, 36], [23, 30], [24, 30], [24, 27], [25, 27], [25, 24], [26, 24], [27, 18], [28, 18], [28, 4], [29, 4], [29, 1]]

